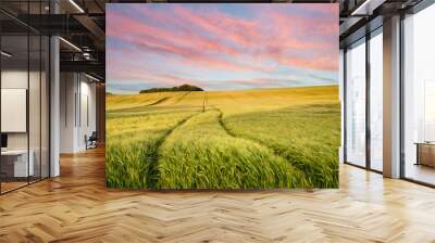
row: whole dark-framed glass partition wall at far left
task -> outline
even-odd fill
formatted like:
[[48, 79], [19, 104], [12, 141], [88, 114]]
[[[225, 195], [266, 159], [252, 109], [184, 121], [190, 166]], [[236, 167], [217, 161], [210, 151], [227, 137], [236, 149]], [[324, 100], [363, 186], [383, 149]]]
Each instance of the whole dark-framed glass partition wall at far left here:
[[[21, 1], [14, 10], [47, 14], [47, 1]], [[0, 1], [0, 8], [15, 5]], [[49, 38], [14, 17], [0, 13], [0, 193], [49, 176]]]

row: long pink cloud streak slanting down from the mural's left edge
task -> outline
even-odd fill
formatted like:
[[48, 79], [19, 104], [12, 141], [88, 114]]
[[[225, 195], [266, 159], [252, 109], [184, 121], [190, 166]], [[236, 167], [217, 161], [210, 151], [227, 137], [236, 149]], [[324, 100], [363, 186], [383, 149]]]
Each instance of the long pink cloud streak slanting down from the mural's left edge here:
[[[217, 41], [201, 39], [199, 35], [174, 34], [142, 23], [138, 23], [119, 13], [111, 13], [110, 17], [116, 27], [108, 29], [110, 37], [133, 43], [145, 52], [160, 54], [175, 54], [183, 62], [190, 65], [201, 65], [217, 69], [235, 72], [264, 71], [265, 67], [235, 62], [236, 59], [217, 57], [216, 52], [224, 52], [229, 56], [238, 53]], [[174, 41], [178, 40], [178, 41]]]

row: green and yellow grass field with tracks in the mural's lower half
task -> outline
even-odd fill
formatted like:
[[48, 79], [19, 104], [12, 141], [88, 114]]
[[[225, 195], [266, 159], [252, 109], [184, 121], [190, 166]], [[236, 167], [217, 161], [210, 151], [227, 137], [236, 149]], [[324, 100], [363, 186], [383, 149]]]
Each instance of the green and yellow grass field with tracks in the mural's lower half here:
[[107, 97], [107, 183], [337, 188], [338, 87]]

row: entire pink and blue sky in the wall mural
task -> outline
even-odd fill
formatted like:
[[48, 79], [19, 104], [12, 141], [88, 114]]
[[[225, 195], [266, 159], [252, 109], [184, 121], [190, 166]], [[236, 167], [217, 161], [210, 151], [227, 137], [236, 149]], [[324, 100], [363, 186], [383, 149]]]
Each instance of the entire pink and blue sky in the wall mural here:
[[107, 90], [338, 82], [338, 4], [107, 4]]

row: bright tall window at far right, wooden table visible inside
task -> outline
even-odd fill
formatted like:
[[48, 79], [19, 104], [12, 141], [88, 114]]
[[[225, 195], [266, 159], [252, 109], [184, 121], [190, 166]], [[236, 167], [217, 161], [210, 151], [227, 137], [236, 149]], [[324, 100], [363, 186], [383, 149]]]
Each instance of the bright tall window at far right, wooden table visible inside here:
[[435, 182], [435, 72], [430, 64], [435, 37], [426, 30], [434, 21], [434, 7], [403, 21], [405, 177], [430, 184]]

